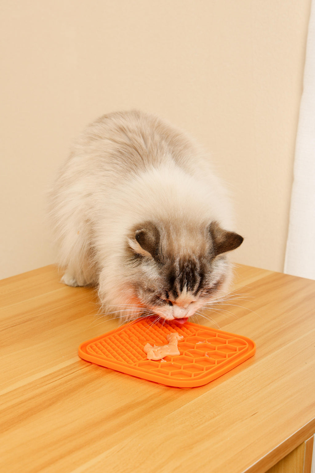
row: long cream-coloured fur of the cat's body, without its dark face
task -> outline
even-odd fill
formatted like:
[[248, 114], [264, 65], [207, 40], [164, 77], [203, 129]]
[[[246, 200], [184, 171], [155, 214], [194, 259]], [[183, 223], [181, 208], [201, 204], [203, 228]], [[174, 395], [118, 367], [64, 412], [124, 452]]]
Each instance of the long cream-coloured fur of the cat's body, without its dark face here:
[[[173, 251], [194, 254], [202, 237], [192, 229], [213, 220], [232, 227], [230, 199], [209, 156], [182, 131], [138, 111], [104, 115], [87, 127], [53, 185], [50, 215], [62, 281], [96, 285], [104, 307], [130, 306], [126, 318], [145, 307], [133, 289], [137, 268], [126, 264], [128, 238], [145, 252], [132, 228], [163, 222]], [[230, 265], [221, 264], [227, 278]], [[159, 280], [152, 265], [147, 271]]]

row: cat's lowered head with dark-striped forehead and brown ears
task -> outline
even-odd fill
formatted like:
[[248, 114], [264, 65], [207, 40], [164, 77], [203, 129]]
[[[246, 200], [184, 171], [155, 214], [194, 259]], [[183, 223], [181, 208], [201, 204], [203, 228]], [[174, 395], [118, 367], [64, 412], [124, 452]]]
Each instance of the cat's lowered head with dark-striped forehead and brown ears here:
[[146, 221], [132, 229], [127, 242], [130, 284], [139, 305], [184, 323], [220, 296], [230, 274], [225, 253], [243, 237], [216, 221], [198, 226]]

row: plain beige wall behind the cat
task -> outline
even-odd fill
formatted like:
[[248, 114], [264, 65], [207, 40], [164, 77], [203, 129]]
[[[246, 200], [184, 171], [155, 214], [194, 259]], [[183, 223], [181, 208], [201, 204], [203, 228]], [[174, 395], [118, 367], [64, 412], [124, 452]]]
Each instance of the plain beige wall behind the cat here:
[[234, 260], [282, 271], [310, 0], [2, 2], [0, 277], [53, 262], [44, 193], [98, 115], [195, 135], [235, 196]]

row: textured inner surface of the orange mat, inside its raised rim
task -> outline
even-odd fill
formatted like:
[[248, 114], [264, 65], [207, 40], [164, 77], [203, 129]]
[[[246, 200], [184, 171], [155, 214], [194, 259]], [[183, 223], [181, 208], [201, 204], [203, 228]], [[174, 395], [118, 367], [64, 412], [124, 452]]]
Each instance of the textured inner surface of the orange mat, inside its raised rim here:
[[[180, 327], [168, 324], [166, 328], [151, 323], [150, 319], [140, 320], [124, 330], [105, 335], [102, 340], [90, 343], [86, 351], [119, 364], [134, 366], [143, 372], [187, 379], [209, 374], [248, 347], [245, 340], [211, 328], [198, 330], [189, 324]], [[143, 351], [145, 343], [163, 345], [167, 343], [166, 335], [170, 332], [184, 336], [178, 343], [180, 355], [157, 361], [146, 359]]]

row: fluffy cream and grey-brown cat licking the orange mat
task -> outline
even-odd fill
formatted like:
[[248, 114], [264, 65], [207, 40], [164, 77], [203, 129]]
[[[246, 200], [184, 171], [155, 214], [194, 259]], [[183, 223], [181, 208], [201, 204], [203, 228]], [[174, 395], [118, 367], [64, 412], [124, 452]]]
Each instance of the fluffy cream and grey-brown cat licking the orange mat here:
[[227, 290], [231, 199], [186, 133], [137, 110], [87, 126], [50, 192], [61, 282], [94, 285], [104, 313], [185, 323]]

